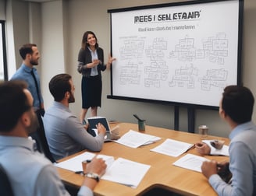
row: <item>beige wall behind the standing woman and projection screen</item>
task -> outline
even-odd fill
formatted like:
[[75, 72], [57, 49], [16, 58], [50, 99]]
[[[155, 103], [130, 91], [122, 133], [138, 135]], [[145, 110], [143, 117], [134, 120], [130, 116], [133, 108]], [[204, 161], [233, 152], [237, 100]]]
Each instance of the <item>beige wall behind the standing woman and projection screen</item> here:
[[[12, 0], [13, 1], [13, 0]], [[52, 75], [68, 72], [73, 75], [76, 86], [76, 103], [70, 108], [75, 114], [80, 113], [81, 75], [76, 72], [77, 54], [83, 33], [92, 30], [96, 33], [100, 46], [105, 50], [105, 61], [110, 51], [110, 21], [108, 9], [118, 9], [138, 5], [151, 5], [166, 2], [185, 2], [185, 0], [57, 0], [41, 4], [41, 82], [45, 107], [52, 103], [52, 96], [48, 93], [48, 81]], [[21, 16], [22, 10], [16, 10], [13, 15]], [[249, 87], [256, 96], [256, 82], [254, 73], [256, 51], [256, 1], [244, 1], [244, 40], [242, 51], [242, 67], [244, 86]], [[26, 24], [24, 24], [26, 26]], [[24, 40], [19, 40], [23, 42]], [[19, 60], [19, 59], [18, 59]], [[124, 100], [109, 100], [110, 73], [103, 72], [102, 107], [99, 115], [108, 120], [127, 121], [136, 123], [132, 116], [138, 114], [147, 119], [147, 124], [163, 128], [174, 127], [174, 112], [172, 106], [153, 103], [137, 103]], [[255, 109], [254, 109], [255, 110]], [[256, 111], [254, 114], [254, 120]], [[210, 134], [227, 136], [229, 127], [219, 118], [217, 110], [196, 110], [196, 128], [199, 124], [207, 124]], [[180, 130], [187, 131], [187, 108], [180, 108]], [[197, 131], [197, 130], [196, 130]]]

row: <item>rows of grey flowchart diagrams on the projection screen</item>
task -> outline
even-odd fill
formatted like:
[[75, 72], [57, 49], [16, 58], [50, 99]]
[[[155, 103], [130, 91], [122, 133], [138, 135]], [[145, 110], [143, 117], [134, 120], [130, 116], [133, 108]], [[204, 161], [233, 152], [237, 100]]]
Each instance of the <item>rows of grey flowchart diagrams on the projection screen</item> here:
[[[140, 86], [144, 82], [145, 87], [161, 88], [162, 82], [168, 82], [170, 88], [191, 89], [198, 82], [201, 90], [226, 86], [228, 72], [225, 68], [207, 69], [200, 76], [201, 68], [197, 66], [197, 61], [225, 64], [225, 58], [229, 54], [226, 33], [201, 40], [201, 47], [195, 47], [194, 42], [194, 38], [184, 37], [178, 40], [179, 44], [173, 46], [174, 51], [168, 51], [169, 43], [162, 37], [155, 38], [148, 47], [145, 47], [145, 40], [142, 38], [123, 40], [119, 51], [121, 60], [125, 63], [119, 75], [120, 84]], [[148, 59], [148, 64], [145, 65], [142, 59]], [[172, 66], [172, 59], [182, 62], [179, 68], [169, 67]]]

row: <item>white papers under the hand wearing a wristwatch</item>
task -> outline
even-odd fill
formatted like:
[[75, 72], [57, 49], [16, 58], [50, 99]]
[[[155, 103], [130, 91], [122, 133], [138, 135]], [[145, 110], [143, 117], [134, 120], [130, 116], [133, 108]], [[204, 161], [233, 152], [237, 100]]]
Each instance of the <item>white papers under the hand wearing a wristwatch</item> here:
[[[73, 172], [83, 171], [82, 162], [87, 159], [93, 159], [94, 156], [94, 153], [84, 152], [61, 163], [55, 163], [55, 166]], [[112, 156], [105, 155], [98, 155], [97, 157], [104, 159], [107, 164], [106, 172], [101, 179], [110, 180], [129, 187], [137, 187], [150, 168], [149, 165], [133, 162], [128, 159], [119, 158], [115, 160]]]

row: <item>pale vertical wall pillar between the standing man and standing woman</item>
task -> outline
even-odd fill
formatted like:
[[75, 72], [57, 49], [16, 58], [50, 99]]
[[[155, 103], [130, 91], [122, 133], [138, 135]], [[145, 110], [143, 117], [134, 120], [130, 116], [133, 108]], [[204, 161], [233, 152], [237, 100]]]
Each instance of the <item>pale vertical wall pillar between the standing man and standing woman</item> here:
[[41, 13], [41, 89], [44, 106], [47, 108], [53, 100], [48, 89], [48, 82], [52, 76], [66, 72], [62, 1], [42, 3]]

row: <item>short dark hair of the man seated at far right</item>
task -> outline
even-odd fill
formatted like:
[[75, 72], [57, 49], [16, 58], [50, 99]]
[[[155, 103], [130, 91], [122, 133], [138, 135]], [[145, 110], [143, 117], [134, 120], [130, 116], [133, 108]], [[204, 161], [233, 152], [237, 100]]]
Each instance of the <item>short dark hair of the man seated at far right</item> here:
[[251, 121], [254, 109], [251, 90], [244, 86], [226, 86], [222, 93], [222, 109], [238, 124]]

